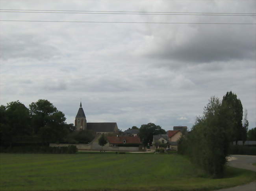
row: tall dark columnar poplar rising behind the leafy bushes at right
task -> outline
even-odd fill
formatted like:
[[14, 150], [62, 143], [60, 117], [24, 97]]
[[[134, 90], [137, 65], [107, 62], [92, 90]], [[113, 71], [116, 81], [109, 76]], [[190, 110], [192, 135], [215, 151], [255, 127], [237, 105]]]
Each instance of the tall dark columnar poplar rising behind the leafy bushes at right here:
[[232, 141], [236, 141], [237, 144], [238, 140], [242, 140], [243, 135], [243, 106], [241, 101], [237, 99], [236, 94], [232, 93], [232, 91], [227, 92], [226, 95], [223, 96], [222, 104], [232, 113], [232, 115], [229, 116], [229, 120], [234, 121], [234, 126], [230, 129], [229, 133]]

